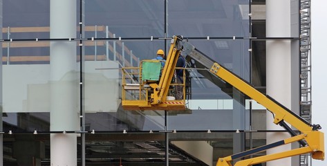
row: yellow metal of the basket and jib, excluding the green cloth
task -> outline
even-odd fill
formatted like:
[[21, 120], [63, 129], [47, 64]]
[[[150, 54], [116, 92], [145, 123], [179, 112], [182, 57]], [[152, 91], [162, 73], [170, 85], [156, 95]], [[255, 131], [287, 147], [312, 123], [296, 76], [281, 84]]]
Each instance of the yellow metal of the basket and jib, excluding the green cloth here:
[[[178, 37], [171, 39], [171, 46], [159, 82], [142, 79], [142, 62], [159, 62], [158, 60], [144, 60], [140, 63], [140, 68], [122, 68], [122, 108], [124, 110], [186, 110], [185, 76], [182, 84], [171, 83], [181, 50], [178, 40]], [[138, 72], [135, 72], [136, 70]], [[185, 73], [184, 69], [183, 72]], [[135, 77], [138, 77], [138, 80], [135, 80]], [[168, 96], [172, 94], [169, 89], [171, 86], [183, 86], [183, 100], [171, 100], [171, 96]]]

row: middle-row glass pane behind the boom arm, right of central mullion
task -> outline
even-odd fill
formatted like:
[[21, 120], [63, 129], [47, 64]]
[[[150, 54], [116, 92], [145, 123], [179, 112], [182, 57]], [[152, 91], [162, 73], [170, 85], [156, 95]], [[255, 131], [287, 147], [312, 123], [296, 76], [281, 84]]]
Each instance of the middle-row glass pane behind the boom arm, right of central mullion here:
[[[189, 40], [203, 54], [222, 64], [244, 80], [249, 80], [247, 40]], [[196, 67], [196, 66], [193, 66]], [[208, 66], [211, 68], [211, 66]], [[178, 130], [232, 130], [248, 128], [249, 112], [245, 97], [230, 85], [221, 86], [214, 75], [203, 75], [192, 69], [190, 111], [171, 113], [168, 127]], [[212, 80], [212, 81], [209, 81]], [[205, 120], [205, 122], [203, 122]], [[196, 124], [196, 125], [192, 125]]]

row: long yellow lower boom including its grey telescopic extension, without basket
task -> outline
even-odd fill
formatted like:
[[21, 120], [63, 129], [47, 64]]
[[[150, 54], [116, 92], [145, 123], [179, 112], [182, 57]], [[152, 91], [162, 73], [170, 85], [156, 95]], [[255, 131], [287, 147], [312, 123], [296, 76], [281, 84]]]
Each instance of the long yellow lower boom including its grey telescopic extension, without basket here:
[[[249, 158], [246, 160], [240, 160], [236, 162], [234, 165], [237, 166], [247, 166], [254, 165], [258, 163], [265, 163], [270, 160], [277, 160], [279, 158], [286, 158], [290, 156], [297, 156], [300, 154], [312, 154], [312, 158], [318, 160], [324, 160], [324, 133], [318, 131], [321, 129], [319, 124], [310, 124], [303, 120], [303, 118], [297, 116], [297, 114], [293, 113], [283, 105], [279, 104], [279, 102], [270, 98], [267, 95], [263, 95], [261, 92], [257, 91], [252, 87], [248, 82], [238, 77], [236, 74], [227, 70], [220, 64], [213, 62], [212, 59], [206, 57], [197, 50], [193, 45], [188, 42], [183, 41], [183, 51], [192, 59], [197, 59], [201, 61], [203, 66], [208, 66], [209, 72], [218, 76], [224, 82], [231, 84], [234, 88], [238, 89], [248, 97], [256, 100], [263, 107], [268, 109], [274, 114], [274, 123], [281, 125], [284, 127], [286, 131], [290, 133], [292, 137], [287, 138], [285, 140], [281, 140], [279, 142], [274, 142], [270, 145], [264, 145], [262, 147], [257, 147], [255, 149], [250, 149], [248, 151], [243, 151], [239, 154], [233, 154], [232, 156], [227, 156], [225, 158], [219, 158], [217, 162], [217, 166], [232, 166], [232, 160], [237, 158], [244, 158], [245, 156], [250, 156], [251, 154], [256, 154], [260, 151], [265, 151], [267, 149], [277, 147], [280, 145], [286, 145], [291, 142], [299, 142], [301, 147], [298, 149], [291, 149], [289, 151], [281, 151], [277, 154], [269, 154], [266, 156]], [[211, 66], [211, 68], [209, 68]], [[288, 124], [288, 122], [292, 127], [295, 127], [301, 134], [297, 135], [295, 131], [293, 131]]]

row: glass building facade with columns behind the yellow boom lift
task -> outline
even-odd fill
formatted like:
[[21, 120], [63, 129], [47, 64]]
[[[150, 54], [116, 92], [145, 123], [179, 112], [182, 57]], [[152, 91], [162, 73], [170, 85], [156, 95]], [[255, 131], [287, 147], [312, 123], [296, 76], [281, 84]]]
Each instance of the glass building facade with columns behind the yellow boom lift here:
[[187, 111], [122, 109], [122, 67], [174, 35], [300, 110], [299, 1], [0, 2], [3, 165], [215, 165], [284, 133], [191, 66]]

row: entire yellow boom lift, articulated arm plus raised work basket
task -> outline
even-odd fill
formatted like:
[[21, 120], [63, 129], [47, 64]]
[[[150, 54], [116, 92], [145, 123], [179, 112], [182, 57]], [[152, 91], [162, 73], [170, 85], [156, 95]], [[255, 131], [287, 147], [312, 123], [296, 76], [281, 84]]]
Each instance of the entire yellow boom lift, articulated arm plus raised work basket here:
[[[232, 166], [232, 161], [238, 158], [245, 158], [246, 156], [250, 156], [252, 154], [256, 154], [260, 151], [266, 151], [267, 149], [271, 149], [273, 147], [278, 147], [281, 145], [286, 145], [292, 142], [299, 142], [301, 146], [297, 149], [290, 149], [288, 151], [281, 151], [276, 154], [268, 154], [265, 156], [259, 156], [255, 158], [248, 158], [245, 160], [239, 160], [234, 163], [235, 166], [247, 166], [247, 165], [255, 165], [259, 163], [265, 163], [270, 160], [277, 160], [279, 158], [287, 158], [290, 156], [297, 156], [301, 154], [310, 153], [313, 159], [324, 160], [324, 133], [319, 131], [321, 129], [319, 124], [310, 124], [303, 118], [299, 117], [297, 114], [293, 113], [282, 104], [279, 104], [276, 100], [270, 98], [268, 95], [263, 95], [263, 93], [257, 91], [252, 87], [248, 82], [238, 77], [236, 74], [227, 70], [220, 64], [216, 62], [212, 62], [211, 59], [208, 59], [203, 53], [198, 51], [193, 45], [185, 42], [182, 37], [174, 36], [171, 39], [171, 48], [169, 50], [168, 59], [163, 68], [162, 76], [160, 77], [159, 82], [150, 83], [148, 88], [145, 84], [148, 84], [147, 81], [139, 81], [136, 84], [136, 89], [138, 90], [137, 99], [134, 100], [126, 100], [126, 91], [127, 89], [123, 88], [123, 99], [122, 99], [122, 107], [127, 110], [183, 110], [185, 109], [185, 97], [183, 100], [170, 100], [169, 102], [180, 102], [179, 104], [169, 104], [167, 103], [167, 94], [169, 88], [171, 86], [171, 79], [174, 76], [175, 66], [178, 59], [178, 55], [180, 51], [184, 51], [186, 55], [191, 57], [192, 59], [201, 59], [203, 60], [203, 64], [212, 63], [211, 68], [208, 68], [209, 72], [213, 75], [216, 75], [219, 79], [227, 82], [234, 86], [234, 88], [238, 89], [252, 100], [260, 103], [263, 107], [265, 107], [268, 111], [273, 113], [274, 115], [274, 123], [279, 124], [281, 127], [286, 129], [288, 133], [290, 133], [290, 138], [286, 138], [285, 140], [280, 140], [278, 142], [274, 142], [269, 145], [264, 145], [262, 147], [257, 147], [255, 149], [250, 149], [247, 151], [243, 151], [239, 154], [233, 154], [231, 156], [227, 156], [224, 158], [218, 158], [217, 166]], [[210, 64], [211, 65], [211, 64]], [[139, 68], [142, 71], [142, 67]], [[123, 71], [126, 71], [124, 69]], [[126, 75], [126, 73], [124, 74]], [[131, 86], [124, 81], [126, 77], [123, 75], [123, 86]], [[142, 73], [140, 73], [142, 75]], [[142, 76], [141, 76], [142, 77]], [[184, 80], [184, 79], [183, 79]], [[145, 82], [145, 84], [143, 83]], [[173, 84], [174, 85], [174, 84]], [[185, 85], [185, 83], [183, 83]], [[144, 96], [148, 96], [142, 99], [141, 92], [145, 91]], [[125, 96], [124, 96], [125, 95]], [[184, 92], [185, 95], [185, 92]], [[131, 96], [130, 96], [131, 97]], [[149, 98], [149, 99], [148, 99]], [[296, 128], [300, 131], [297, 134], [288, 124], [292, 125], [292, 127]]]

